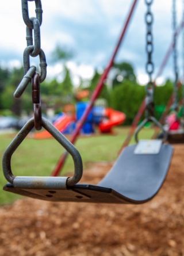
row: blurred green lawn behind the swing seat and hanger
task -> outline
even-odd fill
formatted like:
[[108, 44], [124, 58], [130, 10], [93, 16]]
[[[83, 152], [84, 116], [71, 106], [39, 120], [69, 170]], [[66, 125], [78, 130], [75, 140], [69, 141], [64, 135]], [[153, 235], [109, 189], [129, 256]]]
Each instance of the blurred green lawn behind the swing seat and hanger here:
[[[114, 129], [115, 135], [93, 135], [79, 137], [75, 146], [80, 152], [83, 159], [84, 169], [87, 162], [106, 162], [115, 161], [118, 150], [120, 150], [124, 142], [128, 128]], [[148, 139], [152, 135], [152, 130], [143, 129], [140, 132], [140, 138]], [[3, 152], [13, 140], [14, 135], [0, 135], [0, 159], [2, 162]], [[70, 139], [70, 137], [68, 137]], [[131, 143], [134, 143], [132, 139]], [[31, 175], [31, 176], [47, 176], [51, 175], [52, 170], [56, 166], [60, 155], [64, 149], [55, 139], [34, 140], [26, 138], [17, 148], [11, 158], [11, 170], [16, 175]], [[67, 158], [63, 169], [63, 174], [73, 172], [74, 163], [71, 156]], [[62, 174], [61, 174], [62, 175]], [[6, 179], [3, 176], [2, 167], [0, 173], [0, 188], [6, 184]], [[17, 196], [13, 193], [0, 190], [0, 204], [10, 203]]]

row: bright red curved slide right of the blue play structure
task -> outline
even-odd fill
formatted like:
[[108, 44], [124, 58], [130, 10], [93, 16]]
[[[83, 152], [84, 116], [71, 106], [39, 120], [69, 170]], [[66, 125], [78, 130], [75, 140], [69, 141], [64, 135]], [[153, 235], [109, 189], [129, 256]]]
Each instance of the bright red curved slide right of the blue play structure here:
[[111, 132], [111, 128], [115, 125], [119, 125], [124, 123], [126, 119], [126, 115], [120, 111], [106, 108], [105, 109], [105, 117], [101, 124], [99, 124], [99, 130], [103, 133]]

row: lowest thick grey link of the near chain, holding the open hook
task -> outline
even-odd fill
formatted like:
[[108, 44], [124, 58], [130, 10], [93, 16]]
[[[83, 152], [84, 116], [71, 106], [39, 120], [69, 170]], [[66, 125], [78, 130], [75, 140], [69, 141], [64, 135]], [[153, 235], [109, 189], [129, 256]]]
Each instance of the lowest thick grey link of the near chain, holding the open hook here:
[[[33, 52], [33, 49], [34, 49], [34, 46], [30, 45], [30, 46], [26, 47], [24, 50], [23, 62], [24, 62], [24, 73], [25, 74], [26, 74], [26, 72], [28, 72], [28, 70], [30, 68], [29, 56]], [[39, 57], [40, 57], [40, 83], [42, 83], [47, 76], [47, 62], [46, 62], [44, 51], [42, 49], [40, 49]]]

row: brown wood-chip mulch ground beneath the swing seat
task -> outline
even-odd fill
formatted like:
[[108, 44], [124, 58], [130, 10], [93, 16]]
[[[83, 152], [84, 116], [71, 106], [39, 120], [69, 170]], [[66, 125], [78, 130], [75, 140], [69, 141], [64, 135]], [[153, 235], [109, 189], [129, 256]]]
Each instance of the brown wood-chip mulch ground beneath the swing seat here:
[[[0, 208], [0, 255], [184, 255], [184, 146], [159, 194], [143, 205], [51, 203], [30, 198]], [[113, 163], [89, 163], [97, 184]]]

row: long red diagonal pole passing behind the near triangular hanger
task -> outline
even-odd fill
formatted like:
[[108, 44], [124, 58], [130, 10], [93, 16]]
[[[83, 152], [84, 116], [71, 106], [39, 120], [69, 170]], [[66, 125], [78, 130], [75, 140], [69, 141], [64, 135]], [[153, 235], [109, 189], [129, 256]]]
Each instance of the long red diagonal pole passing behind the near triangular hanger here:
[[[83, 124], [85, 123], [85, 120], [87, 118], [87, 116], [89, 115], [90, 113], [90, 110], [93, 108], [93, 104], [94, 104], [94, 101], [97, 99], [98, 95], [101, 93], [101, 90], [102, 88], [104, 87], [104, 81], [105, 79], [108, 77], [108, 74], [109, 74], [109, 71], [110, 71], [110, 68], [112, 68], [113, 64], [114, 64], [114, 59], [116, 57], [116, 54], [117, 54], [117, 51], [118, 49], [120, 48], [120, 44], [122, 43], [122, 40], [124, 39], [124, 36], [125, 36], [125, 32], [127, 30], [127, 27], [128, 27], [128, 24], [129, 24], [129, 21], [131, 20], [131, 17], [132, 17], [132, 14], [133, 14], [133, 10], [135, 9], [135, 6], [136, 6], [136, 2], [137, 0], [134, 0], [133, 1], [133, 4], [132, 4], [132, 7], [131, 7], [131, 10], [128, 14], [128, 17], [127, 17], [127, 20], [125, 21], [125, 25], [124, 25], [124, 28], [122, 30], [122, 33], [121, 33], [121, 36], [118, 40], [118, 43], [116, 45], [116, 48], [113, 52], [113, 56], [112, 58], [110, 59], [110, 62], [108, 64], [108, 67], [106, 67], [106, 69], [104, 70], [104, 73], [102, 74], [101, 78], [99, 79], [99, 82], [97, 84], [97, 87], [96, 89], [94, 90], [93, 94], [91, 95], [91, 99], [90, 99], [90, 102], [89, 102], [89, 105], [87, 106], [85, 112], [83, 113], [83, 116], [81, 117], [81, 119], [78, 121], [78, 123], [76, 124], [76, 128], [75, 128], [75, 131], [74, 131], [74, 134], [72, 135], [72, 138], [71, 138], [71, 143], [74, 144], [78, 135], [79, 135], [79, 132], [81, 131], [81, 128], [83, 127]], [[52, 176], [57, 176], [59, 175], [59, 172], [60, 170], [62, 169], [65, 161], [66, 161], [66, 158], [67, 158], [67, 155], [68, 153], [65, 152], [59, 159], [59, 162], [57, 163], [55, 169], [53, 170], [53, 173], [52, 173]]]

